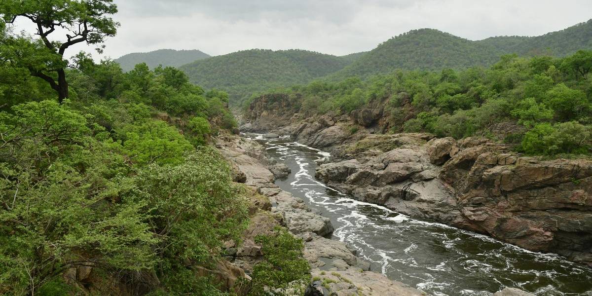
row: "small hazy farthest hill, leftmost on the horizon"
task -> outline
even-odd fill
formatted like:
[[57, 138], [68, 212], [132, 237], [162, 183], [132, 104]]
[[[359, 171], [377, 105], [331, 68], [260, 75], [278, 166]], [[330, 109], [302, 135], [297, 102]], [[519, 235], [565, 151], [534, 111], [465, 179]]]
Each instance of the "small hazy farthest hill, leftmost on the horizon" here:
[[126, 54], [116, 59], [115, 62], [119, 63], [121, 69], [127, 72], [134, 69], [134, 66], [139, 63], [146, 63], [150, 69], [154, 69], [158, 65], [178, 67], [207, 57], [210, 55], [200, 52], [200, 50], [159, 49], [154, 52]]

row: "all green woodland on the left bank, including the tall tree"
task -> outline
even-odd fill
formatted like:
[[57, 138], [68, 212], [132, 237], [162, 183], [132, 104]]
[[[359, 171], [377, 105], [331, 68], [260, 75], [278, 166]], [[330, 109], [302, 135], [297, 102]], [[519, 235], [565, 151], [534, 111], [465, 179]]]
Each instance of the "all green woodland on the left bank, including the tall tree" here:
[[[249, 223], [252, 192], [211, 144], [236, 128], [228, 95], [174, 67], [66, 59], [72, 40], [101, 46], [116, 33], [117, 7], [52, 3], [0, 4], [0, 295], [232, 293], [197, 274]], [[14, 32], [21, 17], [36, 35]], [[50, 41], [57, 27], [70, 41]], [[310, 277], [303, 259], [268, 260], [298, 255], [300, 240], [258, 240], [266, 255], [243, 294]], [[301, 268], [278, 275], [292, 259]], [[81, 268], [92, 278], [65, 276]]]

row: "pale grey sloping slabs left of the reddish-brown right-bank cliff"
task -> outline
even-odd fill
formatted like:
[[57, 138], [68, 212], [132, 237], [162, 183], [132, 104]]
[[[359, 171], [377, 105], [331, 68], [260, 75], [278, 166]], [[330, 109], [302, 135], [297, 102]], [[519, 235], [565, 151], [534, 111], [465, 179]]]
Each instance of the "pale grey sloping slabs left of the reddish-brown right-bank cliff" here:
[[[419, 135], [401, 135], [415, 139], [407, 139], [408, 143], [421, 143], [413, 136]], [[363, 162], [350, 159], [321, 165], [316, 177], [361, 201], [474, 230], [462, 218], [451, 188], [436, 179], [440, 168], [430, 160], [425, 146], [404, 144]]]

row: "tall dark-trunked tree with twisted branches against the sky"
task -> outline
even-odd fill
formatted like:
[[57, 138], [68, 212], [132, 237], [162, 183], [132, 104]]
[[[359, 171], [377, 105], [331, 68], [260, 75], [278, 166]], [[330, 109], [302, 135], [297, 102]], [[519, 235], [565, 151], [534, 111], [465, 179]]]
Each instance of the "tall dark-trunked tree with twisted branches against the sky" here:
[[[112, 0], [4, 0], [0, 2], [0, 17], [9, 24], [26, 18], [36, 26], [39, 36], [12, 36], [4, 46], [18, 50], [14, 54], [20, 58], [13, 62], [49, 83], [61, 103], [68, 97], [66, 67], [73, 66], [64, 57], [66, 50], [81, 42], [100, 46], [106, 37], [115, 36], [119, 24], [108, 15], [116, 12]], [[50, 40], [56, 30], [66, 31], [62, 37], [66, 41]]]

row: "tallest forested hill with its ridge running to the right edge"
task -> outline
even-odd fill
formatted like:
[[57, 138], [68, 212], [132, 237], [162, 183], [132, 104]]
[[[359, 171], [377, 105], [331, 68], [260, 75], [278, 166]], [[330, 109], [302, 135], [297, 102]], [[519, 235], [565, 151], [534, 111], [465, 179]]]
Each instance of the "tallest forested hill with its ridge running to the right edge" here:
[[379, 44], [330, 77], [366, 77], [395, 69], [489, 66], [503, 54], [567, 56], [592, 49], [592, 20], [537, 37], [500, 36], [471, 41], [433, 29], [409, 31]]

